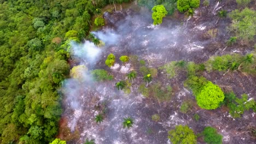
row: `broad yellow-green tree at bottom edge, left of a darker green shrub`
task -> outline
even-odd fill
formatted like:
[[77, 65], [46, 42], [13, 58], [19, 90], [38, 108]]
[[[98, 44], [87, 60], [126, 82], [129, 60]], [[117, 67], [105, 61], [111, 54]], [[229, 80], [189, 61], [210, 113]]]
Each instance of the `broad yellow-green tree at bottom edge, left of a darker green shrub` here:
[[170, 139], [173, 144], [196, 143], [196, 135], [194, 134], [194, 131], [188, 127], [188, 125], [177, 125], [175, 129], [168, 131], [168, 139]]

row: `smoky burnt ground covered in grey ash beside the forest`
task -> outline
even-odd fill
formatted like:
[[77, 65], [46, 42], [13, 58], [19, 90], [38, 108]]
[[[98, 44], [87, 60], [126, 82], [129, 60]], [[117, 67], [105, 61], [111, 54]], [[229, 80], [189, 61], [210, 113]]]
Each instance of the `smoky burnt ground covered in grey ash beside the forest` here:
[[[158, 75], [149, 83], [152, 85], [160, 82], [163, 86], [172, 86], [171, 100], [160, 103], [152, 97], [145, 98], [138, 92], [139, 85], [144, 83], [143, 75], [139, 73], [139, 63], [124, 66], [118, 59], [122, 55], [137, 55], [138, 59], [146, 61], [147, 67], [159, 68], [171, 61], [202, 63], [214, 55], [243, 55], [252, 50], [252, 46], [239, 45], [225, 49], [225, 41], [230, 37], [226, 29], [230, 20], [218, 20], [217, 11], [221, 8], [228, 11], [235, 8], [232, 2], [217, 5], [217, 2], [211, 1], [210, 6], [207, 9], [197, 9], [194, 17], [189, 20], [184, 18], [181, 21], [183, 17], [180, 14], [176, 15], [180, 17], [179, 20], [166, 17], [160, 26], [152, 25], [150, 11], [143, 8], [139, 11], [127, 9], [104, 13], [107, 25], [94, 32], [105, 43], [96, 60], [89, 62], [88, 57], [75, 55], [73, 58], [77, 59], [77, 64], [85, 64], [89, 70], [109, 71], [114, 79], [107, 82], [66, 81], [63, 86], [64, 112], [59, 137], [66, 139], [67, 143], [83, 143], [86, 139], [94, 139], [95, 143], [170, 143], [167, 138], [168, 130], [182, 124], [192, 128], [195, 134], [201, 133], [206, 126], [214, 127], [223, 135], [223, 143], [256, 143], [248, 130], [256, 127], [256, 113], [252, 110], [246, 111], [241, 118], [234, 119], [225, 106], [216, 110], [200, 109], [192, 93], [183, 86], [187, 79], [185, 71], [168, 79], [163, 71], [158, 70]], [[213, 34], [209, 33], [210, 30]], [[109, 53], [113, 53], [117, 59], [111, 68], [104, 64]], [[125, 94], [117, 90], [115, 83], [127, 79], [126, 74], [131, 70], [137, 71], [138, 75], [131, 85], [131, 93]], [[249, 98], [256, 99], [255, 76], [239, 72], [227, 73], [225, 76], [223, 74], [219, 71], [205, 71], [202, 76], [220, 86], [224, 92], [232, 90], [236, 95], [246, 93]], [[185, 100], [193, 102], [187, 114], [179, 111]], [[102, 111], [105, 112], [104, 120], [98, 124], [94, 118]], [[160, 116], [158, 122], [152, 121], [152, 115], [156, 113]], [[195, 113], [200, 116], [198, 122], [193, 119]], [[125, 117], [134, 119], [130, 129], [123, 128]], [[70, 129], [70, 132], [63, 129]], [[197, 139], [197, 143], [203, 143], [203, 140]]]

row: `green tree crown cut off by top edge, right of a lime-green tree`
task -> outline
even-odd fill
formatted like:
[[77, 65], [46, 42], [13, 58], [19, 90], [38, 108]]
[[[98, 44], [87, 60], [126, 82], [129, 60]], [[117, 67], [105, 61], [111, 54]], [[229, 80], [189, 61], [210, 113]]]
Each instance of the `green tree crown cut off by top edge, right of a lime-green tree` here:
[[178, 0], [177, 9], [179, 12], [184, 13], [185, 11], [193, 8], [198, 8], [200, 0]]

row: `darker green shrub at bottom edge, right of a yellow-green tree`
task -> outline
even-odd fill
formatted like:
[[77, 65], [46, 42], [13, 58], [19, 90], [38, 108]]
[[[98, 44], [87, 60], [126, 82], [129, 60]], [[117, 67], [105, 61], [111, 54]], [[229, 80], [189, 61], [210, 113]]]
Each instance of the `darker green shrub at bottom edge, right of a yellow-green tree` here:
[[209, 144], [222, 144], [222, 135], [217, 133], [217, 130], [212, 127], [203, 129], [203, 140]]

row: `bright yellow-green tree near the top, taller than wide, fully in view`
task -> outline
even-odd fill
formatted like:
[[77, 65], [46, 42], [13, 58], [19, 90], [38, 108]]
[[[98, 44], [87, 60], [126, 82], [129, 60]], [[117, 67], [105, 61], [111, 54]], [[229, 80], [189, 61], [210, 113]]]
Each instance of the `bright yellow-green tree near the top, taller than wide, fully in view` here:
[[162, 18], [167, 14], [164, 5], [155, 5], [152, 8], [152, 11], [152, 19], [154, 20], [153, 24], [160, 25], [162, 23]]

